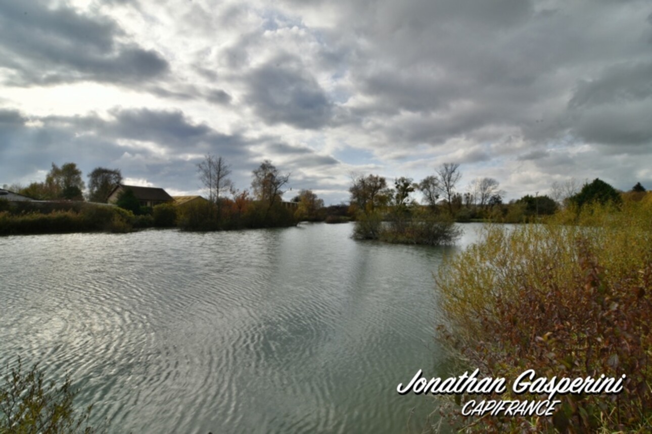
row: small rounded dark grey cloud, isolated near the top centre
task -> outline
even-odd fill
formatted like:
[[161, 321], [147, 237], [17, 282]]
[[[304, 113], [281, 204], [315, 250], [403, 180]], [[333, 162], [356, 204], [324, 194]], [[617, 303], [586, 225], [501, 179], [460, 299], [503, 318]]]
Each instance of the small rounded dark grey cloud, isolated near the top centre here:
[[280, 55], [245, 78], [246, 100], [268, 124], [316, 129], [329, 123], [332, 104], [298, 57]]

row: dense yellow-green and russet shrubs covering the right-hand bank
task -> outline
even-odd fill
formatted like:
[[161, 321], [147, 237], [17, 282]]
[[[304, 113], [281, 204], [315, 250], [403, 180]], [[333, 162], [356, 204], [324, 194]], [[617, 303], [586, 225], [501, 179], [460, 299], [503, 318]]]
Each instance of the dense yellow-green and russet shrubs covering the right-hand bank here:
[[[615, 395], [559, 395], [554, 416], [462, 417], [468, 432], [648, 432], [652, 426], [652, 201], [558, 212], [541, 225], [493, 225], [437, 275], [441, 340], [465, 369], [507, 383], [526, 369], [620, 378]], [[515, 395], [469, 399], [546, 399]]]

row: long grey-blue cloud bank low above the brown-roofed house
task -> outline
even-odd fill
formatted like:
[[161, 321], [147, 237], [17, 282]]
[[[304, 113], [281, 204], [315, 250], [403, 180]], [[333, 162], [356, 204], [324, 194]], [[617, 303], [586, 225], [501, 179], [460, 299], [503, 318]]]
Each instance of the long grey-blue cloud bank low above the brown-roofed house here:
[[40, 126], [27, 126], [22, 113], [0, 111], [0, 137], [5, 137], [0, 182], [48, 170], [51, 162], [70, 161], [84, 173], [97, 166], [118, 167], [125, 177], [196, 190], [196, 164], [201, 158], [188, 159], [188, 154], [210, 152], [233, 162], [246, 161], [250, 154], [252, 142], [193, 123], [178, 110], [116, 108], [110, 115], [110, 119], [93, 113], [29, 117]]

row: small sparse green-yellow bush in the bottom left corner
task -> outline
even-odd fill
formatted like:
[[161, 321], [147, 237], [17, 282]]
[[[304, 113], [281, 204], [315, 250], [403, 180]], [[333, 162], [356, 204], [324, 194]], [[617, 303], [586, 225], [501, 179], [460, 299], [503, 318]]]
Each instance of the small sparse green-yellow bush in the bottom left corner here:
[[54, 381], [48, 383], [37, 365], [23, 372], [19, 359], [18, 367], [7, 368], [3, 381], [0, 386], [0, 433], [98, 432], [88, 424], [92, 405], [80, 413], [75, 411], [76, 392], [69, 377], [58, 386]]

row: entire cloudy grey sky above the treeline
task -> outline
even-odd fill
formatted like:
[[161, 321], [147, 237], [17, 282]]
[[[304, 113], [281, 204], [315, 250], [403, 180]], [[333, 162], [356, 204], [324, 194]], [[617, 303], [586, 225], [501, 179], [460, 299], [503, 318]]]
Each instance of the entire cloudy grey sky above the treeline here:
[[209, 152], [326, 203], [444, 162], [508, 199], [651, 189], [652, 3], [0, 0], [0, 185], [75, 162], [195, 194]]

